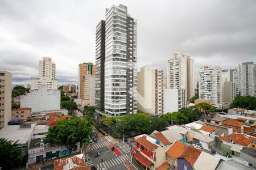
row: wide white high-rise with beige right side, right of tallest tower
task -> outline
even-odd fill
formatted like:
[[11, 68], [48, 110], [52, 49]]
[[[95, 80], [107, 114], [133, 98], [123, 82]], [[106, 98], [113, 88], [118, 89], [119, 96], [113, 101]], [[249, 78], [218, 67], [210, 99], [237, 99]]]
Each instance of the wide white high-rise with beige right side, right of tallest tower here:
[[183, 53], [174, 53], [167, 61], [167, 88], [185, 90], [185, 100], [195, 96], [194, 59]]

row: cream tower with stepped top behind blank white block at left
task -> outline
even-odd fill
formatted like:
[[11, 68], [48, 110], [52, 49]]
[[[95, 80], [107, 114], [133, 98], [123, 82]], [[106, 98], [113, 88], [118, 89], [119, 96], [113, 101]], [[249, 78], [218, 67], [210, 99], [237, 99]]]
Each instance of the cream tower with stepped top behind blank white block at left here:
[[51, 80], [55, 80], [55, 63], [52, 62], [51, 57], [43, 57], [43, 60], [39, 61], [38, 66], [39, 77], [47, 76]]

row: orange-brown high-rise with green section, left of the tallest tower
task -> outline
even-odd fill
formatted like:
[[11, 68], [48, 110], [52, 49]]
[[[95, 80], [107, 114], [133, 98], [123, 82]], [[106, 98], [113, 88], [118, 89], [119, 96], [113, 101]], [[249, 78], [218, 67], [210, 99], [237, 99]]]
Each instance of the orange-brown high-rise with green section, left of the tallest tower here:
[[96, 67], [93, 65], [93, 63], [88, 62], [88, 63], [80, 63], [79, 65], [79, 99], [82, 99], [82, 93], [83, 93], [83, 82], [82, 79], [85, 75], [90, 74], [95, 76], [96, 74]]

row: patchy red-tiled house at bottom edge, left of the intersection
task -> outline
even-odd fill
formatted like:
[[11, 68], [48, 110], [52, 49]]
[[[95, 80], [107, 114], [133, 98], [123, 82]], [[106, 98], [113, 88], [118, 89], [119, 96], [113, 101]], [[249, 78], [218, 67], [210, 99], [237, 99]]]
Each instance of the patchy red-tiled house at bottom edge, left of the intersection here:
[[54, 170], [90, 170], [84, 161], [84, 155], [76, 155], [72, 158], [57, 159], [54, 162]]

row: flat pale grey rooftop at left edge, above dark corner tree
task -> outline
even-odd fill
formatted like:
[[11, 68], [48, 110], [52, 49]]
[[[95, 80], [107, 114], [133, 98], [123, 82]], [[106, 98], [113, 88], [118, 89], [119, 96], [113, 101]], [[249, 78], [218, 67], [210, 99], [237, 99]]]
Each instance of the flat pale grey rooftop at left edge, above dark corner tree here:
[[18, 140], [18, 144], [20, 145], [26, 144], [35, 129], [35, 125], [31, 124], [31, 128], [20, 128], [20, 125], [5, 126], [0, 130], [0, 138], [6, 138], [12, 141]]

